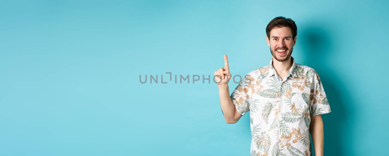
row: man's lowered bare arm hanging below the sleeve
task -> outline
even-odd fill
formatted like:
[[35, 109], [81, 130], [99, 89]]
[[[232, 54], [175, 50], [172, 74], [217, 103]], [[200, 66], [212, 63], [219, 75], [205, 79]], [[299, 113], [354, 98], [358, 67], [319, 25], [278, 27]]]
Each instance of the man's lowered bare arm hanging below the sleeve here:
[[311, 123], [309, 127], [314, 144], [315, 154], [316, 156], [323, 156], [324, 129], [321, 114], [311, 117]]

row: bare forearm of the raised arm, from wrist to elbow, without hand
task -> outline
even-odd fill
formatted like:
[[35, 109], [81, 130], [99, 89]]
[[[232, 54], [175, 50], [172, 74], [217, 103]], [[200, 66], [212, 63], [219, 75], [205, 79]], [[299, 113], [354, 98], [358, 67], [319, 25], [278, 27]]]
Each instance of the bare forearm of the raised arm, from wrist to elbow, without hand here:
[[224, 119], [227, 122], [233, 121], [235, 116], [235, 106], [232, 103], [230, 98], [230, 91], [228, 85], [219, 85], [219, 97], [220, 97], [220, 107], [222, 109]]

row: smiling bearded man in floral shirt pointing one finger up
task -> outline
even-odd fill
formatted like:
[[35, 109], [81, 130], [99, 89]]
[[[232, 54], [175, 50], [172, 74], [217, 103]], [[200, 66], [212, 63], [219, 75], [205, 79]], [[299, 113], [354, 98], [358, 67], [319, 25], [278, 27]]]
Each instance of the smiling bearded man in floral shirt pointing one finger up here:
[[321, 114], [331, 112], [319, 74], [295, 63], [291, 56], [297, 26], [290, 18], [274, 18], [266, 26], [272, 60], [247, 74], [229, 95], [231, 73], [227, 56], [224, 68], [214, 72], [220, 105], [227, 123], [236, 123], [249, 110], [251, 155], [310, 156], [310, 135], [316, 156], [323, 155]]

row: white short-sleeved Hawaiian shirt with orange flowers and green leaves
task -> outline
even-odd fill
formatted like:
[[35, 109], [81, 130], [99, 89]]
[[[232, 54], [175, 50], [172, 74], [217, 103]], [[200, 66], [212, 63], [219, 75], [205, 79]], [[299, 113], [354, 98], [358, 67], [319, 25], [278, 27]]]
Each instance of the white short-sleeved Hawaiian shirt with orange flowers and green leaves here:
[[311, 156], [310, 118], [331, 112], [319, 74], [291, 60], [284, 80], [271, 60], [245, 75], [230, 96], [242, 116], [250, 111], [251, 156]]

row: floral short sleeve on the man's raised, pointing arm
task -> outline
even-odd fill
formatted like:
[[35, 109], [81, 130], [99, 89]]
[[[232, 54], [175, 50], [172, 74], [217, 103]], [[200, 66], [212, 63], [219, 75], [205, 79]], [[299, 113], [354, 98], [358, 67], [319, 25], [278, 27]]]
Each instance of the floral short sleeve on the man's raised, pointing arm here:
[[251, 89], [249, 89], [248, 84], [245, 82], [245, 79], [242, 79], [230, 96], [232, 103], [242, 116], [250, 110], [251, 103]]

